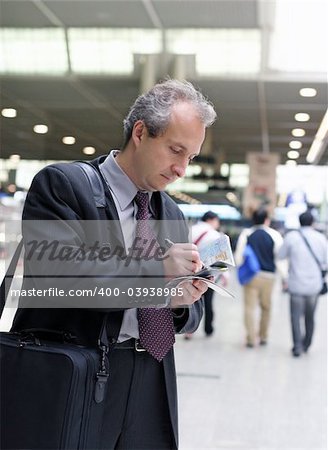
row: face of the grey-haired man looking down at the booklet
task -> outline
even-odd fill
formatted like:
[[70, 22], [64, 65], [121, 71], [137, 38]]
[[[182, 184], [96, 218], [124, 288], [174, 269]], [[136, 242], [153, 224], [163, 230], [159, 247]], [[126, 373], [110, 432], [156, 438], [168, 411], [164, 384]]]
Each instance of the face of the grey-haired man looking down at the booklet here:
[[199, 154], [205, 138], [205, 126], [189, 103], [176, 104], [168, 128], [152, 138], [142, 121], [136, 122], [133, 181], [139, 189], [162, 191], [185, 175], [190, 161]]

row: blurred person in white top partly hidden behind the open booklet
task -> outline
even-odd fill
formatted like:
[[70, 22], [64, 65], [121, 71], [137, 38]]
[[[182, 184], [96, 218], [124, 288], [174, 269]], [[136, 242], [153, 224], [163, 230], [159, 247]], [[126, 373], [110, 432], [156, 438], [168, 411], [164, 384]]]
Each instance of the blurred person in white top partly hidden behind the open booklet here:
[[[202, 251], [207, 245], [220, 238], [221, 233], [220, 218], [213, 211], [207, 211], [195, 225], [191, 227], [191, 239], [197, 245], [198, 251]], [[219, 275], [219, 280], [224, 286], [227, 284], [227, 274]], [[211, 336], [213, 328], [213, 294], [212, 289], [208, 289], [204, 294], [204, 331], [206, 336]], [[185, 334], [185, 339], [191, 339], [192, 333]]]

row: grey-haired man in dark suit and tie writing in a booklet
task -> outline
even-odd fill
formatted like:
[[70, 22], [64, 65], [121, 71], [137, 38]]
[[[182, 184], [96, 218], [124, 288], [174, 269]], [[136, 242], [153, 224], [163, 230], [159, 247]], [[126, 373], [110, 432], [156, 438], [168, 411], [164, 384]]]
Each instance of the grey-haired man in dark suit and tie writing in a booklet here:
[[[174, 332], [197, 328], [207, 286], [201, 281], [185, 282], [179, 290], [161, 295], [159, 289], [170, 278], [201, 268], [179, 208], [162, 191], [184, 176], [215, 118], [211, 104], [187, 82], [168, 80], [139, 96], [124, 120], [122, 150], [91, 162], [105, 189], [103, 220], [91, 185], [74, 163], [46, 167], [28, 193], [23, 213], [23, 288], [38, 287], [40, 280], [50, 288], [58, 277], [64, 289], [97, 287], [107, 295], [96, 295], [88, 303], [77, 295], [38, 298], [37, 307], [31, 303], [35, 298], [28, 299], [29, 304], [21, 299], [21, 305], [29, 307], [18, 310], [13, 330], [57, 329], [76, 336], [83, 345], [96, 346], [104, 317], [108, 319], [107, 333], [116, 345], [109, 357], [100, 448], [178, 447]], [[156, 235], [151, 225], [158, 223], [161, 232]], [[33, 238], [43, 247], [35, 246]], [[174, 244], [164, 247], [164, 238]], [[141, 248], [135, 248], [136, 239]], [[115, 254], [100, 257], [108, 243]], [[63, 257], [72, 246], [79, 254]], [[90, 257], [92, 251], [95, 257]], [[50, 265], [44, 257], [51, 259]], [[34, 277], [35, 271], [42, 277]], [[126, 293], [130, 287], [130, 294], [140, 294], [138, 280], [147, 293], [154, 293], [147, 304], [152, 307], [141, 308], [138, 298], [131, 305], [131, 295]], [[113, 283], [122, 292], [118, 298], [106, 291]]]

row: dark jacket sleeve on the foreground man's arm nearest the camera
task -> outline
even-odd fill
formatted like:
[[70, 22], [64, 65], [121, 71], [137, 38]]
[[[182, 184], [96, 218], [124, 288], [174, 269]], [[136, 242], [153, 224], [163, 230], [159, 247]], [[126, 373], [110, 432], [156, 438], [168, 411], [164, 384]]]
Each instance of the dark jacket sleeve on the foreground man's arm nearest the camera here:
[[[146, 278], [147, 283], [163, 287], [163, 262], [133, 257], [127, 260], [122, 252], [100, 257], [98, 250], [90, 249], [87, 243], [90, 243], [92, 229], [87, 236], [88, 227], [97, 227], [100, 222], [111, 225], [110, 221], [97, 220], [92, 192], [83, 183], [83, 177], [68, 177], [57, 165], [43, 169], [32, 183], [23, 211], [24, 272], [25, 277], [30, 278], [27, 284], [32, 283], [43, 291], [54, 287], [65, 292], [68, 289], [88, 291], [87, 296], [79, 297], [34, 296], [33, 307], [44, 307], [45, 302], [59, 308], [137, 307], [135, 301], [131, 303], [132, 296], [128, 292], [131, 288], [144, 287]], [[94, 211], [94, 215], [90, 211]], [[86, 218], [91, 223], [82, 220]], [[81, 249], [82, 254], [78, 254]], [[119, 288], [120, 295], [108, 295], [109, 288], [112, 293]], [[153, 300], [156, 302], [156, 297]], [[28, 299], [26, 301], [28, 303]], [[40, 304], [35, 303], [38, 301]], [[29, 306], [27, 303], [25, 306]]]

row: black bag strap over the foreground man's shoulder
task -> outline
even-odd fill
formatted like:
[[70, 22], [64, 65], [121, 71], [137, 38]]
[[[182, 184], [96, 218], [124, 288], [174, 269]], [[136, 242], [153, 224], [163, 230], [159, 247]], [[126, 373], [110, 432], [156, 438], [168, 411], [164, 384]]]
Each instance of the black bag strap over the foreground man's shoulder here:
[[[103, 182], [102, 182], [99, 172], [97, 171], [95, 166], [93, 166], [88, 161], [76, 161], [74, 164], [77, 165], [81, 169], [81, 171], [87, 178], [88, 183], [90, 184], [94, 202], [96, 204], [96, 207], [98, 208], [98, 213], [99, 213], [100, 219], [107, 220], [106, 211], [105, 211], [105, 207], [106, 207], [105, 189], [104, 189], [104, 185], [103, 185]], [[1, 317], [2, 311], [6, 304], [6, 300], [7, 300], [8, 294], [9, 294], [9, 289], [10, 289], [10, 286], [11, 286], [13, 278], [14, 278], [15, 270], [16, 270], [22, 249], [23, 249], [23, 239], [19, 242], [19, 244], [15, 250], [14, 256], [12, 257], [12, 259], [10, 261], [8, 270], [1, 282], [0, 317]]]

